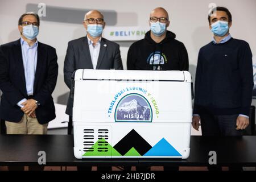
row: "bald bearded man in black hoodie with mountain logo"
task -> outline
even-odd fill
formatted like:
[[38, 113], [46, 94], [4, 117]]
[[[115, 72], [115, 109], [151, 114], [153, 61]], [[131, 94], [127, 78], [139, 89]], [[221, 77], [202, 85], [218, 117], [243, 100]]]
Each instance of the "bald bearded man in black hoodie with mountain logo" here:
[[[170, 25], [165, 9], [158, 7], [150, 13], [150, 31], [145, 38], [131, 45], [127, 56], [127, 69], [131, 70], [177, 70], [188, 71], [188, 53], [183, 43], [175, 40], [176, 35], [167, 31]], [[150, 169], [137, 167], [137, 170]], [[178, 170], [178, 167], [165, 167]]]

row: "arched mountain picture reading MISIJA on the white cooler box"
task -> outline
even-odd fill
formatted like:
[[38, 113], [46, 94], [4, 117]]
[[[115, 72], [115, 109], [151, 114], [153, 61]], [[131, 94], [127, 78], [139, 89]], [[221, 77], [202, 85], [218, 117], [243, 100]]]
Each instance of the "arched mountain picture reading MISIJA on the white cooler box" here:
[[116, 109], [117, 121], [151, 121], [151, 107], [137, 94], [123, 98]]

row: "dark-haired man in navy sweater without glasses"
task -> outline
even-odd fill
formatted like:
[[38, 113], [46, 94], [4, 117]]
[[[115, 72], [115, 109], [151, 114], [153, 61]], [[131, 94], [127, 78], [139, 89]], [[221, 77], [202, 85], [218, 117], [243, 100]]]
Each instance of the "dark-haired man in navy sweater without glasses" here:
[[229, 34], [229, 10], [216, 10], [208, 16], [213, 40], [199, 51], [192, 125], [198, 130], [201, 120], [205, 136], [240, 136], [249, 125], [252, 53], [247, 42]]

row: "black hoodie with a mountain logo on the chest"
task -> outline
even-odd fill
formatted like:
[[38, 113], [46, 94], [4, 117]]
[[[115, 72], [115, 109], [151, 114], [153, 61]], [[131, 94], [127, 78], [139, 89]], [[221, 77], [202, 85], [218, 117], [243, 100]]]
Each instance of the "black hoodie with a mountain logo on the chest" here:
[[127, 69], [130, 70], [177, 70], [188, 71], [188, 53], [176, 35], [167, 31], [166, 38], [154, 42], [150, 31], [145, 38], [131, 45], [127, 55]]

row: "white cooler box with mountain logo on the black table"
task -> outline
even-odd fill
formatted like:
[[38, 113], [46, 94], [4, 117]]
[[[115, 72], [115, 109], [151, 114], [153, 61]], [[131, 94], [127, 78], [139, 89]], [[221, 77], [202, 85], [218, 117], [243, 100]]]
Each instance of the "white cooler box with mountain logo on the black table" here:
[[191, 91], [186, 71], [77, 70], [75, 157], [187, 159]]

